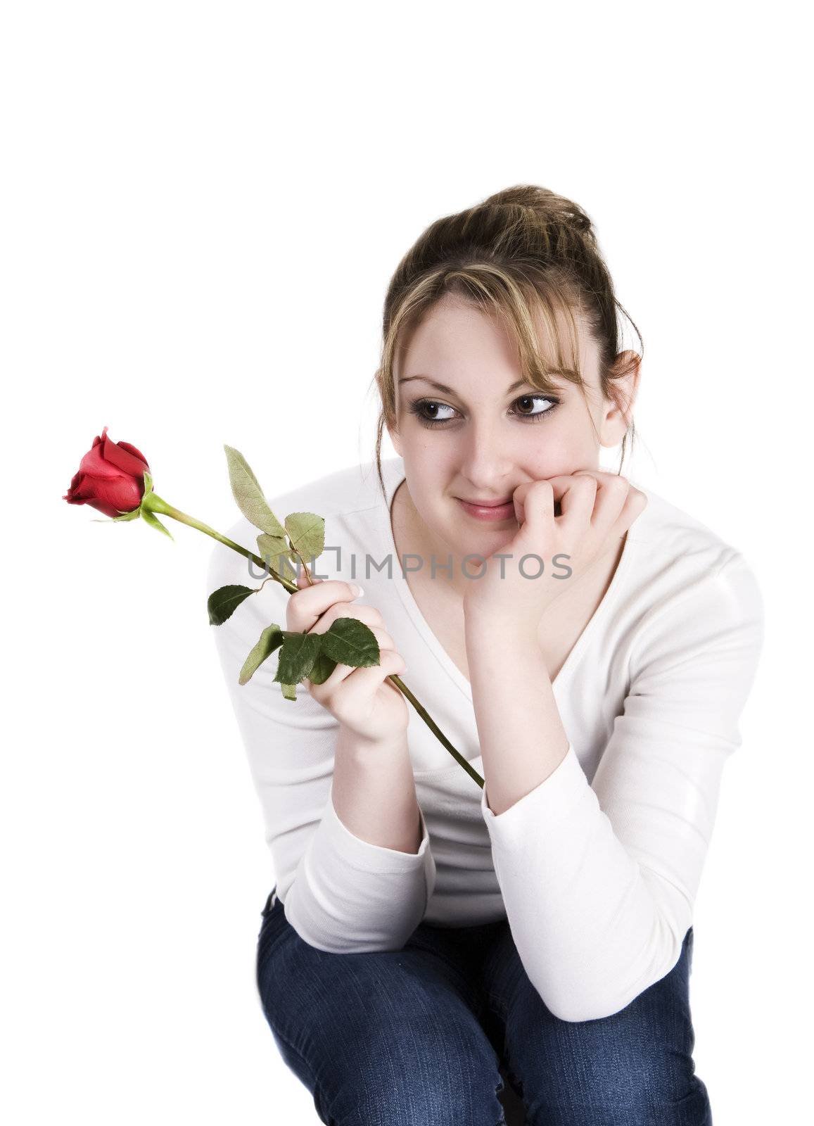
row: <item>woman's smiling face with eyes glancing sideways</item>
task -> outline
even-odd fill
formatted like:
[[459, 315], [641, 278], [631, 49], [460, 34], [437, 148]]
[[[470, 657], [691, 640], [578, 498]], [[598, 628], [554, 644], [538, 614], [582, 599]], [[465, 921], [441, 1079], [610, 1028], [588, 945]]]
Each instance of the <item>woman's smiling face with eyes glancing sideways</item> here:
[[[489, 556], [517, 533], [513, 515], [478, 519], [460, 500], [506, 501], [527, 481], [597, 470], [600, 446], [621, 441], [627, 420], [602, 397], [598, 347], [580, 318], [578, 327], [588, 405], [566, 379], [551, 397], [522, 382], [508, 333], [460, 298], [444, 298], [414, 331], [395, 372], [396, 429], [388, 432], [439, 564], [448, 553]], [[554, 350], [545, 355], [554, 364]], [[621, 390], [633, 405], [635, 384]]]

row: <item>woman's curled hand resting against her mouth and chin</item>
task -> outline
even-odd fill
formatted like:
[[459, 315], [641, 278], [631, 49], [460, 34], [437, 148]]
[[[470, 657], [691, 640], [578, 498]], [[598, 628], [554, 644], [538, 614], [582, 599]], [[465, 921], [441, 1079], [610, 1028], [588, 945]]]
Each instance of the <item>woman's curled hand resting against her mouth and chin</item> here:
[[[464, 617], [499, 623], [504, 636], [536, 637], [548, 606], [618, 546], [647, 498], [616, 473], [578, 470], [518, 485], [512, 499], [520, 527], [510, 544], [486, 558], [483, 573], [471, 579]], [[561, 516], [555, 516], [556, 502]]]

